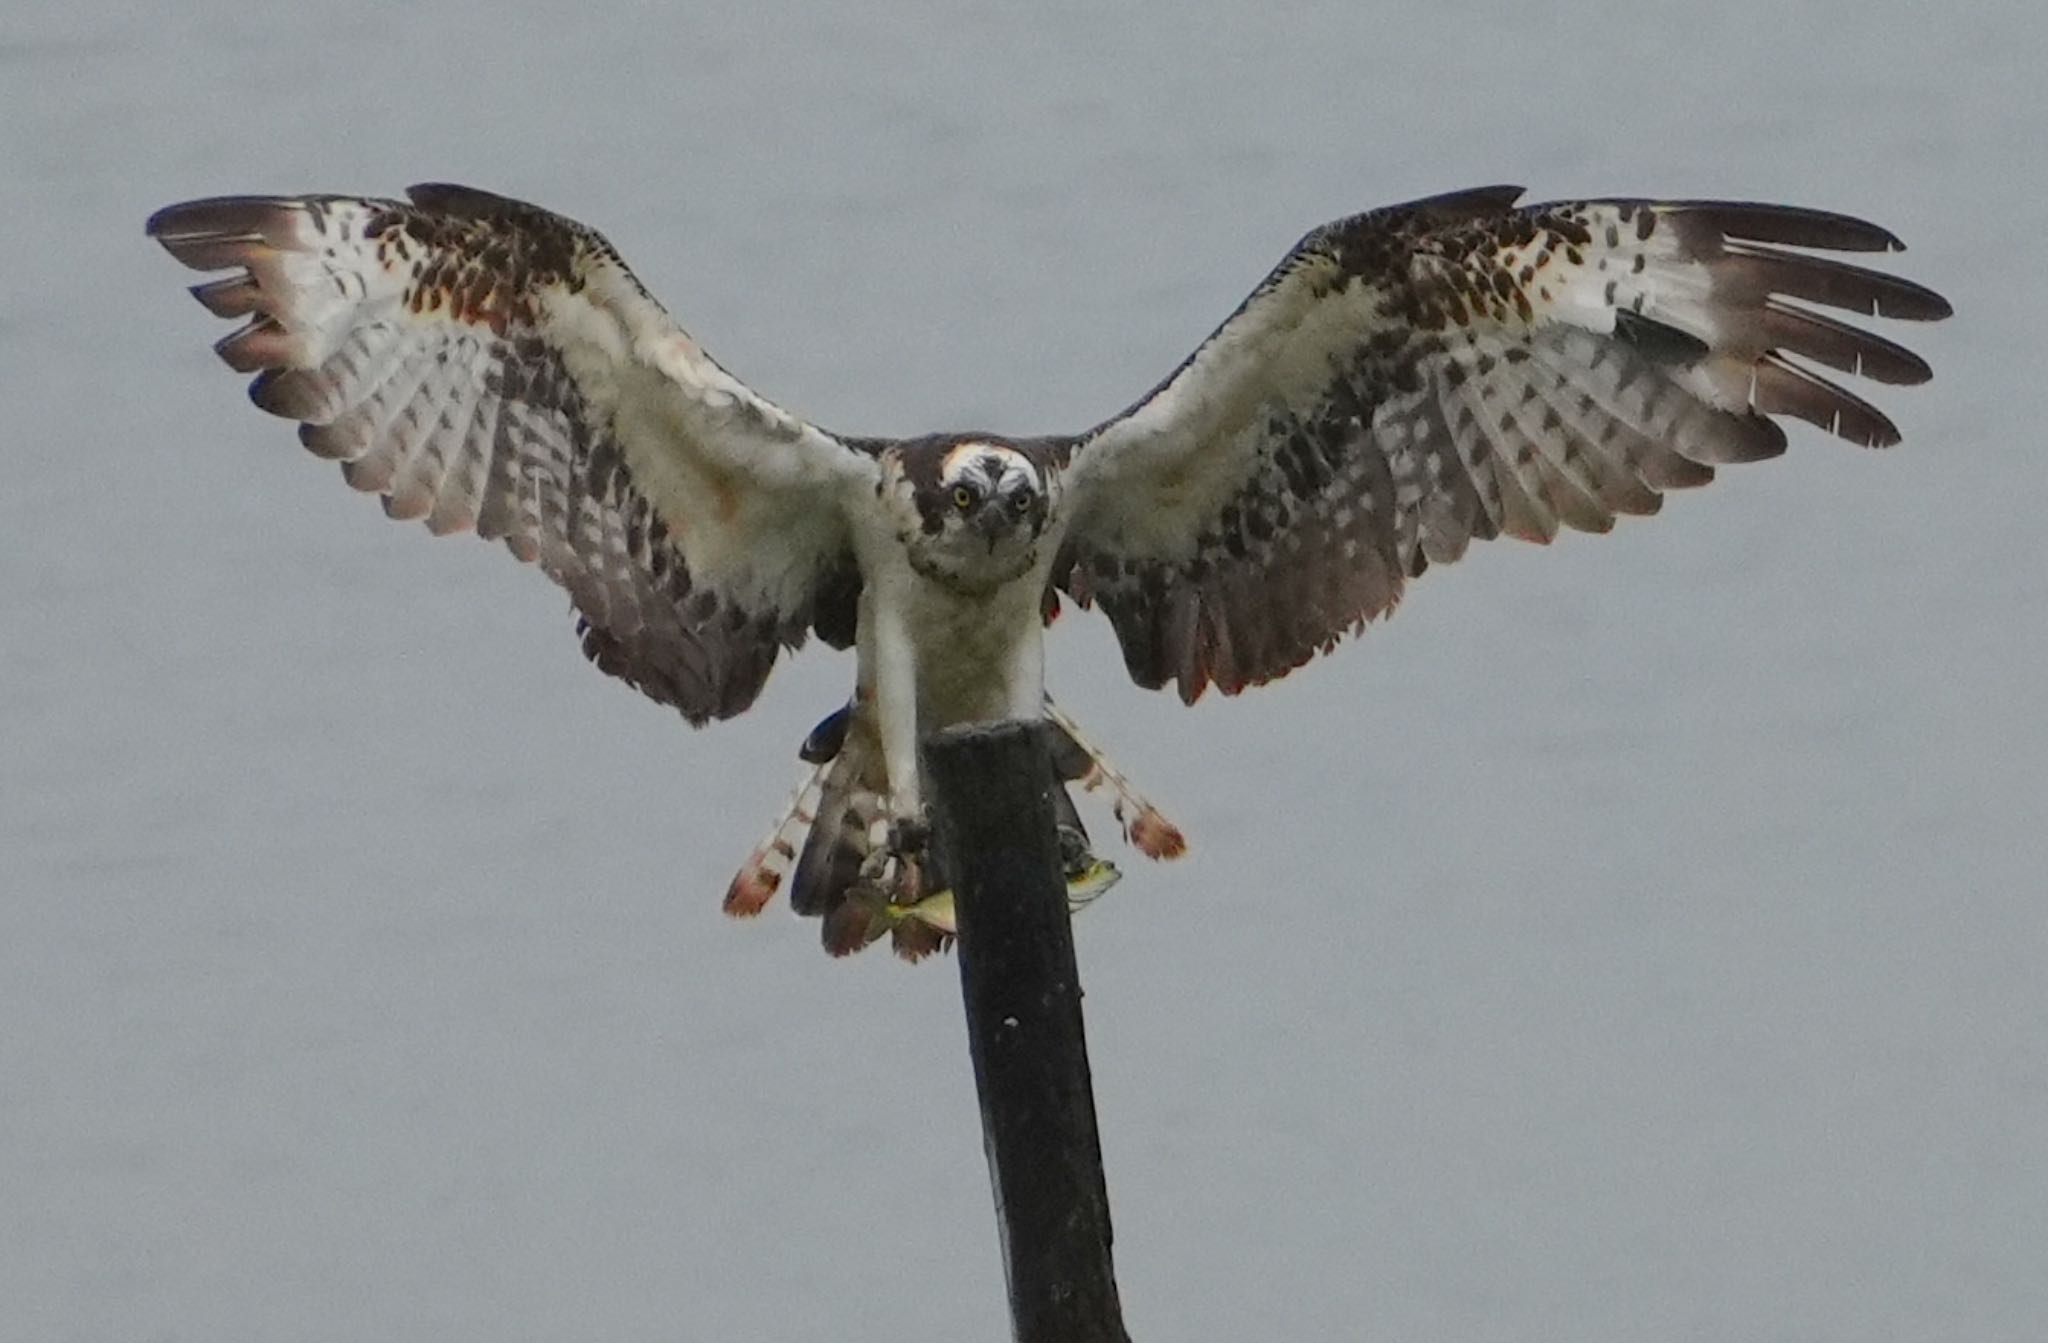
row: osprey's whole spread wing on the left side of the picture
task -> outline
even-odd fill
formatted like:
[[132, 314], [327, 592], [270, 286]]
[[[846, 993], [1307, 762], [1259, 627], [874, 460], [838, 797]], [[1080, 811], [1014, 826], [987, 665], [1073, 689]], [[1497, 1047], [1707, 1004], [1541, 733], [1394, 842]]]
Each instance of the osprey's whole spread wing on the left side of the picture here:
[[840, 497], [870, 452], [748, 391], [598, 233], [461, 186], [223, 197], [150, 233], [215, 348], [393, 518], [500, 538], [567, 588], [584, 651], [692, 723], [743, 710], [811, 626], [844, 641]]

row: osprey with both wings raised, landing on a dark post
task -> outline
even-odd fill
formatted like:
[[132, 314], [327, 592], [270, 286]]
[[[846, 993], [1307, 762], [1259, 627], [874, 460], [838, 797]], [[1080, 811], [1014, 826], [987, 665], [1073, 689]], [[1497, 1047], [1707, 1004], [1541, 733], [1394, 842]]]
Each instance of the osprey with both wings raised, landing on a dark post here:
[[[1180, 833], [1047, 700], [1065, 594], [1130, 678], [1237, 694], [1393, 610], [1501, 534], [1653, 514], [1776, 457], [1774, 416], [1851, 442], [1892, 422], [1815, 364], [1921, 383], [1815, 311], [1935, 319], [1929, 289], [1812, 252], [1898, 250], [1845, 215], [1714, 201], [1516, 205], [1487, 186], [1311, 231], [1202, 346], [1081, 434], [856, 438], [733, 379], [596, 231], [463, 186], [172, 205], [215, 348], [393, 518], [475, 530], [569, 592], [584, 651], [692, 725], [748, 708], [782, 649], [856, 649], [788, 815], [727, 909], [782, 884], [852, 950], [930, 950], [918, 743], [1047, 714], [1061, 774], [1124, 833]], [[1073, 817], [1075, 891], [1100, 884]], [[920, 913], [920, 917], [905, 917]]]

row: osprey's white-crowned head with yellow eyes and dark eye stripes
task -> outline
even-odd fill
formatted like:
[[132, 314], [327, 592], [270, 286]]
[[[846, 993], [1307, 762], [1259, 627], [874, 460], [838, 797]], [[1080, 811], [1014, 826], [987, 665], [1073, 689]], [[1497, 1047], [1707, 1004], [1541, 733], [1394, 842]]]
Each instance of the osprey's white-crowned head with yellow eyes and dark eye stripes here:
[[1053, 512], [1051, 473], [1020, 446], [938, 440], [907, 452], [901, 497], [911, 563], [954, 588], [993, 588], [1038, 559]]

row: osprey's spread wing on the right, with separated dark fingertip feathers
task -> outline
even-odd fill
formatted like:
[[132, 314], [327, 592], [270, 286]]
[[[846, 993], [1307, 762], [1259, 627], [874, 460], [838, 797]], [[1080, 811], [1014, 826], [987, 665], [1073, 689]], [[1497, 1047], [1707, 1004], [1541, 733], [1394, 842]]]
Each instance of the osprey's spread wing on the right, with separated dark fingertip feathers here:
[[1475, 538], [1604, 532], [1716, 465], [1776, 457], [1772, 416], [1896, 442], [1800, 360], [1880, 383], [1921, 383], [1927, 364], [1808, 305], [1933, 319], [1948, 303], [1786, 250], [1898, 250], [1884, 229], [1520, 194], [1309, 233], [1165, 383], [1073, 446], [1057, 579], [1110, 616], [1133, 680], [1194, 700], [1284, 676]]

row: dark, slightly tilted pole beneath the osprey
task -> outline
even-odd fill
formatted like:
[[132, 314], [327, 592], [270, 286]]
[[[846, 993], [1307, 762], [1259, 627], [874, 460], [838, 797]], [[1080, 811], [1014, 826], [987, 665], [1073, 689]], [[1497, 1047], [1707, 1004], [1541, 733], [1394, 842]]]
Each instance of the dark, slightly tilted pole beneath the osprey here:
[[967, 1044], [1018, 1343], [1130, 1343], [1110, 1263], [1044, 723], [924, 745], [934, 854], [952, 880]]

